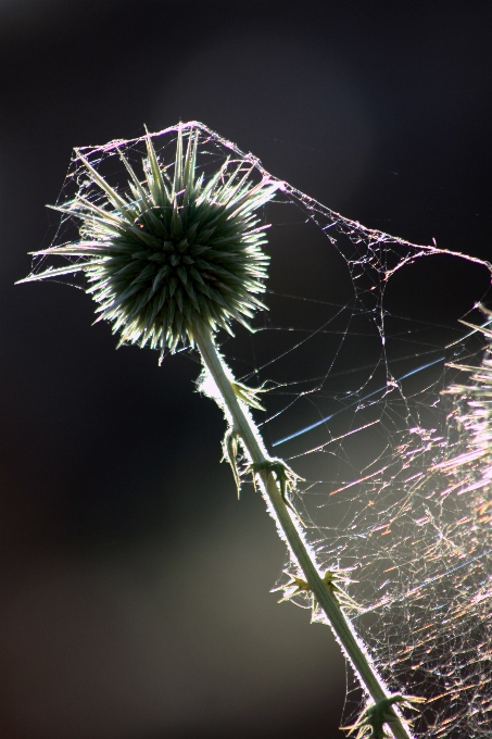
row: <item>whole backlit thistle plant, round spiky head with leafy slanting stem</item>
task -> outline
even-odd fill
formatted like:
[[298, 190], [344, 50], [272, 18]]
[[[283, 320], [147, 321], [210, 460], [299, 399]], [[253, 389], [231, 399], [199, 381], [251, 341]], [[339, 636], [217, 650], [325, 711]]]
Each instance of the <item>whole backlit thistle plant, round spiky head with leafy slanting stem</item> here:
[[[112, 324], [119, 345], [150, 346], [161, 359], [166, 349], [198, 349], [226, 416], [224, 452], [236, 483], [239, 486], [242, 474], [252, 474], [298, 566], [299, 577], [286, 592], [311, 593], [373, 701], [349, 728], [356, 729], [357, 737], [370, 732], [380, 738], [387, 727], [395, 739], [409, 739], [408, 725], [395, 706], [408, 706], [414, 699], [389, 693], [345, 613], [350, 598], [340, 587], [343, 578], [319, 572], [289, 500], [298, 476], [267, 453], [250, 410], [261, 408], [257, 391], [236, 380], [215, 341], [219, 329], [231, 333], [235, 321], [250, 328], [248, 320], [266, 308], [256, 297], [265, 290], [269, 262], [262, 251], [267, 226], [258, 211], [282, 183], [268, 176], [254, 181], [251, 165], [242, 161], [232, 165], [226, 160], [209, 178], [199, 175], [198, 136], [193, 125], [180, 125], [174, 162], [165, 165], [148, 134], [142, 178], [119, 151], [128, 176], [124, 192], [77, 152], [101, 198], [94, 202], [79, 193], [56, 206], [77, 221], [79, 239], [34, 252], [76, 261], [21, 281], [81, 272], [86, 291], [98, 304], [98, 321]], [[241, 459], [247, 464], [240, 469]]]

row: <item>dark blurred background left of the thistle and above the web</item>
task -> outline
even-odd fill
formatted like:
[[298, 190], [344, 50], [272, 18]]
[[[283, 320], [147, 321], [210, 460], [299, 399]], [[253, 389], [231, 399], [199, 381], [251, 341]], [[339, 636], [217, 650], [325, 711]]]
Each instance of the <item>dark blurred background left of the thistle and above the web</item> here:
[[[236, 499], [197, 362], [115, 352], [81, 291], [13, 283], [74, 146], [189, 118], [349, 217], [487, 259], [491, 27], [487, 1], [0, 0], [2, 738], [343, 736], [343, 659], [268, 592], [283, 546]], [[406, 299], [465, 287], [437, 270]]]

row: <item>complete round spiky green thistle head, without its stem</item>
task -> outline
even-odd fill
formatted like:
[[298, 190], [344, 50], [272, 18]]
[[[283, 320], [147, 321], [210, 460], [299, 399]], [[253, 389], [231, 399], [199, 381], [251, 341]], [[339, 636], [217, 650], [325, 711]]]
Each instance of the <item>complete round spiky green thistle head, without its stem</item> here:
[[80, 153], [89, 179], [103, 193], [96, 204], [83, 195], [56, 210], [80, 218], [80, 240], [39, 254], [84, 258], [77, 264], [47, 270], [27, 279], [45, 279], [84, 271], [87, 292], [100, 305], [98, 320], [113, 324], [119, 345], [150, 343], [172, 351], [193, 343], [198, 325], [230, 331], [236, 318], [247, 325], [255, 309], [265, 308], [255, 293], [265, 290], [269, 258], [255, 211], [270, 200], [280, 184], [266, 176], [254, 184], [252, 165], [229, 160], [209, 179], [197, 177], [197, 129], [178, 128], [173, 177], [160, 163], [150, 135], [146, 138], [144, 179], [119, 151], [129, 175], [126, 193], [118, 193]]

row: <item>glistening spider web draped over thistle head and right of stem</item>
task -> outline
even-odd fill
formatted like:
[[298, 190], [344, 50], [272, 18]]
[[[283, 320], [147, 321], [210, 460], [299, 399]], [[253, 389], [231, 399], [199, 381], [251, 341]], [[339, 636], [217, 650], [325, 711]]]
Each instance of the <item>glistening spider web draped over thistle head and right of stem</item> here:
[[[199, 129], [205, 175], [225, 158], [253, 178], [267, 175], [202, 124], [180, 125]], [[152, 135], [163, 166], [174, 161], [176, 136], [177, 127]], [[141, 172], [144, 137], [79, 151], [124, 189], [119, 150]], [[101, 199], [76, 151], [60, 202], [77, 191]], [[459, 324], [459, 315], [422, 311], [414, 274], [425, 256], [430, 271], [452, 261], [468, 283], [491, 267], [365, 228], [286, 183], [264, 215], [269, 311], [256, 316], [254, 334], [219, 335], [222, 351], [242, 383], [265, 390], [266, 413], [255, 412], [265, 441], [304, 478], [294, 502], [306, 538], [320, 569], [345, 578], [344, 608], [378, 671], [391, 691], [426, 699], [415, 735], [489, 736], [492, 335]], [[53, 243], [76, 238], [64, 217]], [[48, 265], [48, 258], [36, 262], [34, 275]], [[417, 300], [404, 299], [408, 283]], [[483, 281], [476, 284], [472, 325], [489, 320], [477, 309]], [[485, 371], [470, 378], [469, 367], [479, 366]], [[292, 563], [280, 587], [289, 574], [298, 574]], [[358, 698], [349, 691], [345, 725]]]

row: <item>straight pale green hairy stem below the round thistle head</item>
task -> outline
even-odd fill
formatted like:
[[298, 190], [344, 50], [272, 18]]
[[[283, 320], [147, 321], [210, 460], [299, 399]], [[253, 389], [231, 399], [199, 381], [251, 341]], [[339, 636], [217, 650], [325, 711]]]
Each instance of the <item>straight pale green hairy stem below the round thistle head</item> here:
[[[231, 383], [234, 378], [217, 351], [207, 328], [195, 328], [193, 330], [194, 341], [202, 355], [205, 367], [212, 375], [215, 385], [224, 400], [224, 403], [231, 416], [232, 429], [239, 435], [247, 456], [255, 464], [267, 463], [270, 461], [260, 433], [243, 404], [236, 397]], [[286, 538], [288, 546], [304, 573], [304, 577], [311, 587], [319, 606], [325, 612], [338, 641], [350, 660], [361, 682], [367, 689], [375, 703], [388, 699], [389, 692], [384, 687], [381, 677], [373, 665], [363, 643], [356, 636], [350, 621], [344, 615], [337, 602], [336, 597], [325, 586], [317, 571], [314, 558], [303, 540], [298, 522], [292, 518], [288, 506], [283, 502], [276, 476], [272, 472], [263, 471], [258, 473], [261, 486], [266, 499], [269, 501], [275, 513], [277, 525]], [[408, 727], [402, 718], [394, 712], [394, 717], [388, 724], [394, 739], [412, 739]]]

